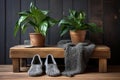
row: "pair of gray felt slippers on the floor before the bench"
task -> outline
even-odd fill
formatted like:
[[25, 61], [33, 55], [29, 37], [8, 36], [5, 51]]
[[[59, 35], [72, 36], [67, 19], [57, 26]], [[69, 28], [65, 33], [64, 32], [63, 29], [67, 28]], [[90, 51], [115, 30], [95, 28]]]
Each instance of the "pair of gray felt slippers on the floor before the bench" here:
[[[60, 70], [57, 67], [57, 64], [54, 60], [52, 54], [48, 54], [45, 60], [45, 73], [48, 76], [58, 76], [60, 75]], [[29, 76], [35, 77], [43, 74], [43, 63], [39, 54], [33, 56], [31, 61], [31, 66], [28, 70]]]

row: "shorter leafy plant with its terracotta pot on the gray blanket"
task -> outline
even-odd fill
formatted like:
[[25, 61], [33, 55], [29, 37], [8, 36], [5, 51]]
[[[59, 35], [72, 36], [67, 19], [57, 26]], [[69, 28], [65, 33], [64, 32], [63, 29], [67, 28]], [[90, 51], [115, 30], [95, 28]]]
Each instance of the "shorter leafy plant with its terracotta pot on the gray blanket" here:
[[86, 31], [102, 32], [95, 23], [86, 22], [84, 11], [69, 10], [69, 15], [59, 21], [60, 36], [70, 32], [71, 41], [74, 44], [85, 40]]

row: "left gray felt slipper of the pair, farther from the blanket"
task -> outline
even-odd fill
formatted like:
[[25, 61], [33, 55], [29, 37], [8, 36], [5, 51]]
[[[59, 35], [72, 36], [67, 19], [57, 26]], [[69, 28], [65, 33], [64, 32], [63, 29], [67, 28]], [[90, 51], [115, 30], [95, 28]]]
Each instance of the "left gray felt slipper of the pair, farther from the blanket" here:
[[43, 64], [40, 56], [38, 54], [34, 55], [31, 61], [31, 66], [28, 70], [28, 75], [32, 77], [42, 75], [43, 73], [42, 65]]

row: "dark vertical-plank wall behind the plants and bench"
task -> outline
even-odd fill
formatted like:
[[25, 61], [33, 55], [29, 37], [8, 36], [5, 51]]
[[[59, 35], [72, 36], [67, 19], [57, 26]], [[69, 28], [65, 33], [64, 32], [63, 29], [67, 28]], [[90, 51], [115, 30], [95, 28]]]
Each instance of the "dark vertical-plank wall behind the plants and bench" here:
[[[31, 1], [40, 9], [49, 10], [49, 15], [56, 19], [68, 15], [69, 9], [85, 10], [88, 14], [87, 21], [96, 22], [104, 29], [103, 34], [88, 32], [86, 39], [96, 44], [110, 46], [112, 58], [109, 63], [120, 64], [116, 62], [120, 60], [120, 54], [117, 53], [120, 50], [120, 38], [118, 37], [120, 34], [120, 24], [118, 22], [120, 20], [118, 21], [118, 17], [116, 18], [116, 15], [118, 16], [120, 13], [120, 6], [117, 4], [119, 0], [0, 0], [0, 64], [11, 63], [9, 58], [10, 47], [23, 44], [25, 39], [29, 39], [29, 32], [33, 31], [29, 28], [25, 34], [19, 32], [17, 37], [13, 36], [14, 25], [19, 18], [18, 12], [29, 9]], [[61, 39], [70, 39], [69, 34], [60, 37], [57, 25], [48, 30], [46, 44], [55, 45]]]

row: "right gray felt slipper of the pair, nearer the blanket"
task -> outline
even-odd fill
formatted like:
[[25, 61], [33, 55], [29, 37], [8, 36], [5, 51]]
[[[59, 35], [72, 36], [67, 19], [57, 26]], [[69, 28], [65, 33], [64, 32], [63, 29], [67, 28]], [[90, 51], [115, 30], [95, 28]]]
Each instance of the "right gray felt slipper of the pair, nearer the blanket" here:
[[45, 60], [45, 66], [46, 66], [46, 74], [48, 76], [58, 76], [60, 75], [60, 71], [57, 67], [57, 64], [53, 58], [53, 55], [48, 54]]

